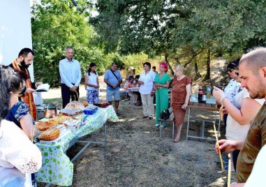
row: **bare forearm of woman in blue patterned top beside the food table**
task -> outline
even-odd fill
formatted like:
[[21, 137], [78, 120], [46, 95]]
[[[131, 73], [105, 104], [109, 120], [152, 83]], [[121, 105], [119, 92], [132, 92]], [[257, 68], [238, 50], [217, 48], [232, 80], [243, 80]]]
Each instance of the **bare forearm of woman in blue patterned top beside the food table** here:
[[34, 130], [34, 136], [40, 133], [40, 130], [34, 126], [32, 122], [31, 114], [26, 114], [19, 119], [20, 125], [22, 127], [23, 132], [27, 135], [27, 137], [31, 137], [31, 130]]

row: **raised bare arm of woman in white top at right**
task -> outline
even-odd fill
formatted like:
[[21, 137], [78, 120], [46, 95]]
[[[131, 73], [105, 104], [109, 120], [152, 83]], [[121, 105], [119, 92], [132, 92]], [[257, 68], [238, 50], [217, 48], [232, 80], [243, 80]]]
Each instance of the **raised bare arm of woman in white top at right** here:
[[260, 110], [261, 105], [251, 98], [244, 98], [240, 110], [235, 107], [221, 89], [214, 87], [214, 98], [222, 100], [224, 107], [230, 116], [235, 119], [239, 124], [246, 125], [255, 117]]

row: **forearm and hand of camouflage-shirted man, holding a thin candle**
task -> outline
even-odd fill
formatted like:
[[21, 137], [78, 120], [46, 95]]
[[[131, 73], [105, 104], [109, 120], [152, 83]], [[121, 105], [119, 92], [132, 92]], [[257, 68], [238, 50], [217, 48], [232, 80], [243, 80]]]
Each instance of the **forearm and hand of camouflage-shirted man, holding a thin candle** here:
[[219, 149], [223, 152], [231, 152], [231, 151], [235, 151], [235, 150], [241, 150], [243, 145], [244, 145], [244, 139], [243, 140], [219, 140], [219, 148], [217, 143], [215, 144], [215, 150], [216, 153], [219, 154]]

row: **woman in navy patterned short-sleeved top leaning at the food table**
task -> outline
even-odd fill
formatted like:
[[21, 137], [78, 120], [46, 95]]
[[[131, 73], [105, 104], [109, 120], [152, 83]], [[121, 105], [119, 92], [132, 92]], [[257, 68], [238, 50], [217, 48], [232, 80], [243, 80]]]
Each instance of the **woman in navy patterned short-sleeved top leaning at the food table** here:
[[[6, 114], [6, 120], [13, 121], [19, 128], [22, 128], [28, 137], [31, 137], [32, 130], [36, 136], [40, 131], [34, 126], [29, 107], [23, 101], [18, 100], [18, 97], [26, 92], [24, 80], [27, 79], [27, 75], [24, 75], [22, 71], [14, 71], [8, 66], [0, 66], [0, 70], [1, 113]], [[33, 186], [36, 186], [34, 174], [31, 174], [31, 182]]]

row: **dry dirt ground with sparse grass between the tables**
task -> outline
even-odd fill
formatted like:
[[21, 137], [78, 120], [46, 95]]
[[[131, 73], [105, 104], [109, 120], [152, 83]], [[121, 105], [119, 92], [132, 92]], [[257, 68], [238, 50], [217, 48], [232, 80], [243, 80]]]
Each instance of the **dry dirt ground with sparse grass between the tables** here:
[[[84, 88], [81, 99], [85, 99]], [[44, 98], [56, 98], [59, 89], [50, 90]], [[105, 91], [100, 92], [105, 100]], [[57, 95], [56, 95], [57, 94]], [[61, 96], [59, 96], [61, 97]], [[142, 108], [131, 108], [128, 103], [119, 105], [118, 122], [108, 121], [108, 149], [91, 145], [74, 162], [73, 186], [226, 186], [227, 172], [221, 172], [219, 156], [214, 151], [214, 141], [186, 141], [187, 116], [182, 129], [182, 140], [172, 142], [172, 126], [159, 128], [154, 120], [142, 119]], [[214, 119], [214, 113], [193, 110], [193, 117]], [[192, 121], [190, 134], [200, 135], [201, 121]], [[221, 124], [221, 134], [224, 127]], [[214, 137], [212, 123], [207, 123], [205, 135]], [[103, 128], [82, 140], [103, 141]], [[82, 149], [77, 143], [67, 154], [73, 158]], [[223, 155], [226, 157], [226, 154]], [[234, 181], [235, 172], [232, 172]], [[44, 186], [38, 184], [38, 186]]]

